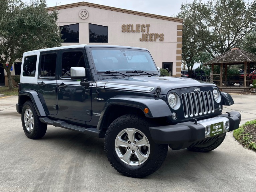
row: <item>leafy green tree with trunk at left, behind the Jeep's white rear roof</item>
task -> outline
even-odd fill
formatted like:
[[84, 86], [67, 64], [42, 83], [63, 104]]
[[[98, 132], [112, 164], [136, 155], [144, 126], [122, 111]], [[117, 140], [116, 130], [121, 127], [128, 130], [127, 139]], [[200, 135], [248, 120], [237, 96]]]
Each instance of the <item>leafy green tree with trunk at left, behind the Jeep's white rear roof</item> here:
[[45, 0], [0, 1], [0, 62], [7, 73], [9, 89], [13, 88], [10, 69], [15, 59], [21, 60], [29, 50], [61, 46], [57, 18], [56, 11], [47, 12]]

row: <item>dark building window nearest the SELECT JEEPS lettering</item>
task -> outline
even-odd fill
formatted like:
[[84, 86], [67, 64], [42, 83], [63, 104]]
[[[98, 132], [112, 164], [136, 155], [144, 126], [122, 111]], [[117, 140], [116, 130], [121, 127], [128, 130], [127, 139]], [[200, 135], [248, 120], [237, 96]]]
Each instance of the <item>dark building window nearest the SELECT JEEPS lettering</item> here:
[[108, 27], [89, 23], [89, 43], [108, 43]]

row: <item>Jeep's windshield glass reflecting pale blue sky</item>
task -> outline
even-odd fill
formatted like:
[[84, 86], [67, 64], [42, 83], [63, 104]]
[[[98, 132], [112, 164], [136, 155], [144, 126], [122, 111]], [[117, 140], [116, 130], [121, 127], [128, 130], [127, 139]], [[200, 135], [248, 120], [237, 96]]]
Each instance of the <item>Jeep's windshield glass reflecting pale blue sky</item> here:
[[97, 72], [143, 70], [158, 73], [148, 51], [127, 48], [90, 48]]

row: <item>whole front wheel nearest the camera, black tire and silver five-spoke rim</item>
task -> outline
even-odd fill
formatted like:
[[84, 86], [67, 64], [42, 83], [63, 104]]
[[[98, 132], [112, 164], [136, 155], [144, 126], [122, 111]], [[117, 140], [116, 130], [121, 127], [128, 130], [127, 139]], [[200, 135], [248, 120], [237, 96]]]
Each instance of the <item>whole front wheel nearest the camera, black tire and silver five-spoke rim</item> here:
[[149, 122], [136, 115], [117, 118], [105, 134], [104, 149], [110, 164], [129, 177], [145, 177], [164, 162], [168, 146], [153, 142]]

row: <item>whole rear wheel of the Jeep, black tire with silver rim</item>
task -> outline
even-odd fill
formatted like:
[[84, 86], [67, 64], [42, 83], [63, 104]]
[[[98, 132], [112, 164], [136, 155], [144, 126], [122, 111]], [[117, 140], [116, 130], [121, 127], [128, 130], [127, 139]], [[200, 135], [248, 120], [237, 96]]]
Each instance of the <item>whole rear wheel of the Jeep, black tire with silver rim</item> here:
[[40, 122], [32, 101], [26, 101], [22, 107], [21, 123], [25, 135], [30, 139], [42, 138], [47, 129], [47, 124]]

